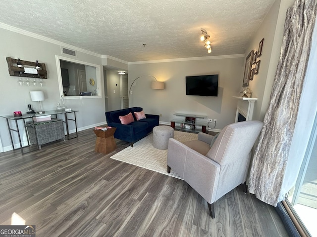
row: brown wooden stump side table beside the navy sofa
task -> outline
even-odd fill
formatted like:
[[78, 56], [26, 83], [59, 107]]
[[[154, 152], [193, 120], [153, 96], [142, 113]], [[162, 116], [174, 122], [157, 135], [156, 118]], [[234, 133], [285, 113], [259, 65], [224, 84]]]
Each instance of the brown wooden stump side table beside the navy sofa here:
[[109, 154], [117, 148], [113, 137], [115, 130], [115, 127], [111, 127], [106, 131], [94, 129], [97, 136], [95, 152]]

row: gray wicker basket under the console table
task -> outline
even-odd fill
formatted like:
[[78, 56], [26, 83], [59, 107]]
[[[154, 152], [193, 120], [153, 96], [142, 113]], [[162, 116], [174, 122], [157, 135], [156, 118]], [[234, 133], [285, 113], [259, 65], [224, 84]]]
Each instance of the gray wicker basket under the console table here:
[[57, 141], [60, 139], [65, 140], [64, 135], [64, 125], [61, 119], [53, 118], [48, 121], [36, 122], [34, 121], [35, 132], [38, 139], [36, 142], [35, 133], [32, 122], [27, 122], [26, 127], [28, 130], [29, 138], [31, 144], [38, 144], [41, 148], [41, 145]]

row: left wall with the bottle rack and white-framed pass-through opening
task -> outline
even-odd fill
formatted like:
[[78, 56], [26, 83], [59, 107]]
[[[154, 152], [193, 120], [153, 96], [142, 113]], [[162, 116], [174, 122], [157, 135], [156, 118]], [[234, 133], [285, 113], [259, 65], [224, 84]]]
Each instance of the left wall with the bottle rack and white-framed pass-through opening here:
[[[13, 111], [26, 113], [28, 104], [32, 104], [38, 109], [38, 103], [32, 102], [30, 98], [29, 91], [32, 90], [44, 91], [46, 99], [43, 101], [43, 109], [47, 111], [54, 110], [57, 102], [60, 102], [55, 61], [55, 54], [61, 55], [60, 45], [27, 36], [28, 33], [19, 34], [2, 28], [0, 28], [0, 35], [0, 55], [2, 56], [0, 60], [0, 83], [2, 85], [0, 115], [13, 115]], [[78, 60], [101, 65], [101, 57], [80, 51], [77, 51], [77, 53]], [[39, 60], [40, 63], [45, 63], [48, 79], [44, 79], [44, 87], [18, 86], [19, 78], [9, 76], [6, 57], [20, 58], [32, 62]], [[79, 130], [104, 124], [106, 121], [104, 98], [72, 99], [65, 100], [65, 102], [68, 107], [79, 110], [76, 114]], [[71, 130], [74, 129], [72, 122], [69, 126]], [[24, 133], [23, 127], [21, 130]], [[4, 118], [0, 118], [0, 137], [4, 151], [10, 150], [11, 142]], [[17, 139], [14, 139], [14, 142], [17, 143]]]

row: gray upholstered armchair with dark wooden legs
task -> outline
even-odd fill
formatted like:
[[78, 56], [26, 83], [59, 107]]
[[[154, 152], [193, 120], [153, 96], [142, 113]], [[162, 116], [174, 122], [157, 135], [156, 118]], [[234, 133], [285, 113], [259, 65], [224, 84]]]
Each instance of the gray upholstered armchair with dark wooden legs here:
[[205, 133], [184, 144], [170, 138], [167, 172], [172, 168], [204, 197], [214, 218], [216, 200], [240, 184], [246, 187], [251, 149], [262, 127], [261, 121], [236, 122], [224, 127], [216, 139]]

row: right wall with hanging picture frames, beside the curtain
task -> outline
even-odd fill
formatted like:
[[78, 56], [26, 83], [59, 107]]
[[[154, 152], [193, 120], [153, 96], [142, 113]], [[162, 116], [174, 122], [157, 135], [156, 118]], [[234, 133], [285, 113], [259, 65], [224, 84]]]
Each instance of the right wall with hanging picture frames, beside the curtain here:
[[252, 96], [258, 98], [255, 103], [254, 120], [263, 120], [268, 108], [284, 35], [286, 11], [293, 3], [294, 0], [276, 0], [247, 47], [246, 55], [252, 49], [258, 51], [259, 43], [264, 38], [262, 56], [258, 59], [261, 60], [260, 71], [249, 84], [253, 91]]

